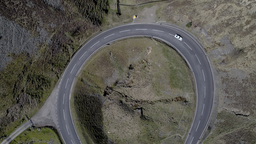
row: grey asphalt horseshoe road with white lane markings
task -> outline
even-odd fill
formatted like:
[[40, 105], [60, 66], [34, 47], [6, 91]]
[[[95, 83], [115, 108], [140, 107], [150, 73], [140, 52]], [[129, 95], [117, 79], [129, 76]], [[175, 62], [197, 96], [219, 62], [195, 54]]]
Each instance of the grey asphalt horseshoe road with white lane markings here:
[[[176, 39], [175, 34], [181, 35], [183, 40]], [[187, 32], [159, 23], [129, 24], [106, 30], [87, 42], [72, 58], [59, 82], [56, 104], [58, 130], [65, 143], [81, 143], [73, 125], [69, 101], [72, 84], [82, 65], [102, 46], [132, 36], [153, 36], [165, 40], [186, 59], [196, 81], [197, 107], [185, 143], [198, 143], [208, 125], [214, 103], [214, 75], [209, 58], [202, 46]]]

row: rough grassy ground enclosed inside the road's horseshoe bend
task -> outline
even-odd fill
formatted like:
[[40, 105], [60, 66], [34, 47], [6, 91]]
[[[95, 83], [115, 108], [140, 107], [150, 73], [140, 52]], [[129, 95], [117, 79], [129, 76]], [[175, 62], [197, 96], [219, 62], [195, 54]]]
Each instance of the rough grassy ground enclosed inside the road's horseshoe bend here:
[[194, 118], [192, 81], [185, 61], [158, 41], [129, 39], [104, 47], [88, 59], [74, 85], [71, 104], [80, 137], [95, 143], [182, 143]]

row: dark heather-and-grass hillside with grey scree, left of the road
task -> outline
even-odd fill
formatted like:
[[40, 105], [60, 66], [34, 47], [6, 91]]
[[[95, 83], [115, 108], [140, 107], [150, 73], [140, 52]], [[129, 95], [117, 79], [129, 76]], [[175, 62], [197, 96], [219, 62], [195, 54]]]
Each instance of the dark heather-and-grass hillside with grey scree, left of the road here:
[[0, 1], [0, 138], [46, 100], [108, 1]]

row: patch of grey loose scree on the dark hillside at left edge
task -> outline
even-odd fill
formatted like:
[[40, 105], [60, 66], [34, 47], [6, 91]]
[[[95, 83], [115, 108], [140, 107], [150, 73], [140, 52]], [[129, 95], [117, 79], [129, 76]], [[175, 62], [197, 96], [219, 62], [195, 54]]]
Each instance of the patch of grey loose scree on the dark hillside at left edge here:
[[0, 16], [0, 71], [12, 60], [10, 54], [20, 52], [28, 54], [29, 57], [37, 56], [36, 45], [48, 40], [48, 33], [37, 27], [38, 37], [31, 37], [30, 31]]

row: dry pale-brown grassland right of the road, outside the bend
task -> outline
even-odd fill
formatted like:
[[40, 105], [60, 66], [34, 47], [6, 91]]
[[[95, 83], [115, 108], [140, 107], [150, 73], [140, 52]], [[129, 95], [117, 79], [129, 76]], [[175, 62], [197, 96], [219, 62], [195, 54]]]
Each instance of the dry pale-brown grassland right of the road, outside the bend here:
[[[159, 20], [183, 27], [200, 40], [218, 72], [215, 75], [216, 83], [220, 84], [218, 120], [207, 143], [255, 143], [256, 133], [250, 130], [256, 104], [255, 12], [255, 1], [246, 0], [163, 2], [157, 10], [161, 15]], [[189, 22], [191, 28], [186, 27]], [[228, 53], [214, 55], [211, 52], [215, 49]], [[234, 119], [240, 122], [235, 123]]]

